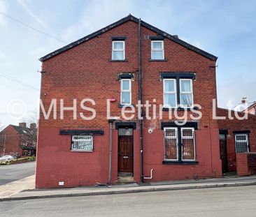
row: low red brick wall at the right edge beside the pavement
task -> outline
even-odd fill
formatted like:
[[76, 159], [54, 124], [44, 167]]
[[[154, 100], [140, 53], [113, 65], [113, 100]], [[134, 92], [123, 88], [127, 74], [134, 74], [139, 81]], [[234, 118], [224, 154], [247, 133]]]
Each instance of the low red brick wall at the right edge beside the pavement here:
[[256, 152], [236, 154], [236, 173], [239, 176], [256, 174]]

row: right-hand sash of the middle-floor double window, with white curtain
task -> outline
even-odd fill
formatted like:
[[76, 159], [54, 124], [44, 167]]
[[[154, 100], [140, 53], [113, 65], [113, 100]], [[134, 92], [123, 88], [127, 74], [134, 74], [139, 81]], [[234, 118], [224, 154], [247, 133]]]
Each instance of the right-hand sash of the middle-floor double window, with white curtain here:
[[180, 79], [180, 105], [184, 107], [191, 107], [193, 105], [191, 79]]

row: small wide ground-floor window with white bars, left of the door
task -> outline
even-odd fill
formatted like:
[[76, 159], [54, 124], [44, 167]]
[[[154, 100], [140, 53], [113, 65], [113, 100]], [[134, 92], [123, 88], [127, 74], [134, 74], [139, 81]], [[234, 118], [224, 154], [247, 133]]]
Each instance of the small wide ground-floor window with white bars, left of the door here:
[[92, 135], [72, 135], [72, 151], [93, 151]]

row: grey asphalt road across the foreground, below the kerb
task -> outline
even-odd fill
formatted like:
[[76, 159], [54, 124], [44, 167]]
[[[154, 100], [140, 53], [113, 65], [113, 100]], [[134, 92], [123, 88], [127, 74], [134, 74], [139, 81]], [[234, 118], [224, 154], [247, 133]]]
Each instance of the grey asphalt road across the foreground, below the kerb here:
[[0, 202], [11, 216], [256, 216], [256, 186]]

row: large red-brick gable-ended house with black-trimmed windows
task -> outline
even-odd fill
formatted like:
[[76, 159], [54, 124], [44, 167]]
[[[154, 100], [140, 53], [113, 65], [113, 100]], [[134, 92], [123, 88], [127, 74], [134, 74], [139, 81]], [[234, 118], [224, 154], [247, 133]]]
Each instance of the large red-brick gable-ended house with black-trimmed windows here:
[[[47, 110], [56, 99], [57, 117], [40, 114], [36, 188], [115, 184], [125, 176], [137, 183], [222, 176], [219, 133], [233, 131], [212, 118], [217, 57], [128, 15], [40, 60], [41, 100]], [[96, 118], [73, 119], [74, 98], [92, 98], [95, 105], [86, 105]], [[124, 105], [149, 100], [164, 105], [163, 118], [146, 119], [143, 108], [143, 120], [140, 113], [129, 121], [107, 119], [107, 99], [111, 116], [120, 116]], [[63, 119], [59, 103], [69, 107]], [[176, 125], [168, 114], [179, 104], [188, 114], [201, 105], [202, 118]], [[226, 161], [235, 170], [233, 155]]]

